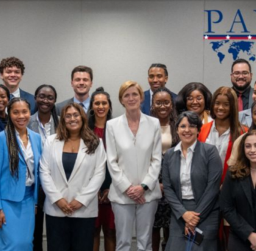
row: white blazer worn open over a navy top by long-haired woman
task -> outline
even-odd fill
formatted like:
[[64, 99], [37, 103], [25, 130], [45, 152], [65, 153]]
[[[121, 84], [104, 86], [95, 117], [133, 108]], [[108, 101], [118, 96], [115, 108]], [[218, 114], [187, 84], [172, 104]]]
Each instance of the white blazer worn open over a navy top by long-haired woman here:
[[75, 199], [83, 206], [69, 217], [97, 217], [97, 193], [104, 181], [106, 166], [102, 140], [95, 153], [91, 155], [85, 153], [85, 143], [80, 140], [77, 160], [68, 181], [62, 161], [63, 147], [64, 141], [56, 139], [56, 134], [47, 137], [40, 159], [40, 181], [46, 193], [43, 211], [54, 217], [65, 217], [55, 203], [61, 198], [65, 198], [68, 203]]

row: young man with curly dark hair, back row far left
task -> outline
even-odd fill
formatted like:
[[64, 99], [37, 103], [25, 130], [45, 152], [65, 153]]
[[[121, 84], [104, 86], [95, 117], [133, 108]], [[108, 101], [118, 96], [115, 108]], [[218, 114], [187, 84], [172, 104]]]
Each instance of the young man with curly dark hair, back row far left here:
[[35, 98], [29, 92], [19, 88], [22, 76], [24, 75], [24, 63], [16, 57], [7, 57], [0, 62], [1, 79], [10, 91], [10, 98], [24, 98], [30, 103], [31, 114], [35, 113]]

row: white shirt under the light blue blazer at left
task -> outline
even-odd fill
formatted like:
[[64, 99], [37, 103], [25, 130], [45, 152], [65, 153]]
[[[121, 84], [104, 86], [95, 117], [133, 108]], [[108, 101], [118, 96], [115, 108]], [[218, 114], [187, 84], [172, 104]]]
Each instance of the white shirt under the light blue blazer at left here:
[[[18, 139], [18, 142], [20, 143], [21, 146], [21, 152], [22, 155], [24, 156], [24, 161], [26, 162], [27, 165], [27, 169], [26, 169], [26, 186], [32, 186], [33, 183], [35, 183], [35, 175], [34, 175], [34, 155], [33, 155], [33, 151], [32, 151], [32, 146], [29, 140], [29, 132], [27, 135], [28, 138], [28, 142], [27, 142], [27, 146], [25, 148], [20, 134], [18, 133], [18, 131], [16, 131], [16, 137]], [[29, 170], [29, 172], [28, 172]]]

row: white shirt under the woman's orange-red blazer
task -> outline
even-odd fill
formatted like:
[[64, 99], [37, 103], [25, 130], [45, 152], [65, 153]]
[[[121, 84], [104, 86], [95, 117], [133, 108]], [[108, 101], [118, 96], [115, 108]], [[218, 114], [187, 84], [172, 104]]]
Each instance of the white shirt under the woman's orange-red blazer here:
[[224, 132], [224, 134], [219, 136], [216, 129], [215, 121], [213, 121], [213, 126], [212, 128], [210, 128], [210, 134], [208, 135], [205, 143], [216, 146], [218, 154], [221, 157], [222, 168], [224, 167], [229, 141], [230, 128], [228, 128], [227, 131]]

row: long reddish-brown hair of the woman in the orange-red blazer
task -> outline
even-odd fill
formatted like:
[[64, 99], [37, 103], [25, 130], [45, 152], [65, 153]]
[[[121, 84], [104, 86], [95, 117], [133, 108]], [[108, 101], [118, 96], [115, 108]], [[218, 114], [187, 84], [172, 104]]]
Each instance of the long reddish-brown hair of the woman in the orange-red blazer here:
[[210, 106], [210, 116], [215, 120], [216, 114], [214, 113], [214, 105], [218, 95], [225, 95], [230, 103], [230, 135], [232, 142], [235, 142], [241, 135], [241, 131], [244, 131], [243, 126], [238, 120], [238, 97], [234, 90], [230, 87], [219, 87], [216, 92], [213, 93], [213, 100]]

